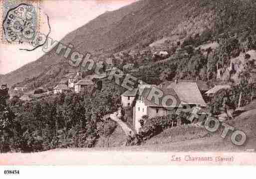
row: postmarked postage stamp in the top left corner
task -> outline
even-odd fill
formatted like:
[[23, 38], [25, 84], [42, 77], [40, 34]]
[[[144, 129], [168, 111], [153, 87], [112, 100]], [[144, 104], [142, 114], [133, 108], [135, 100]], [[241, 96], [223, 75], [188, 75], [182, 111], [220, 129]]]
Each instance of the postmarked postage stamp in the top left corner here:
[[1, 41], [31, 43], [39, 30], [39, 0], [2, 0]]

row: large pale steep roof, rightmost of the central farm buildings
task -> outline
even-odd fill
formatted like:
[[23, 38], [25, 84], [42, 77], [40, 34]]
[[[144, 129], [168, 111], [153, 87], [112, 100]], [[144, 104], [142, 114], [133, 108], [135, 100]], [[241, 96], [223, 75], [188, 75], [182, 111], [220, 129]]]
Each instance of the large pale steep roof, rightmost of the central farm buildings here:
[[167, 88], [173, 88], [182, 102], [206, 106], [205, 100], [201, 95], [197, 83], [171, 83]]

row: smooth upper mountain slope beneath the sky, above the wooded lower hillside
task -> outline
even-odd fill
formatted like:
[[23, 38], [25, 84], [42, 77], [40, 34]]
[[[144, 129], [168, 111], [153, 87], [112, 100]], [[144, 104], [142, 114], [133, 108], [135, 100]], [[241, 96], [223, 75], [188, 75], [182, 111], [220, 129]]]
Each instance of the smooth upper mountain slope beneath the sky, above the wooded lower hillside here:
[[[97, 55], [143, 49], [165, 38], [183, 41], [205, 29], [212, 29], [215, 34], [241, 28], [250, 30], [256, 26], [254, 7], [253, 0], [140, 0], [98, 16], [67, 34], [61, 42], [73, 44], [81, 53]], [[0, 83], [13, 85], [38, 76], [54, 64], [65, 63], [53, 51], [4, 75]]]

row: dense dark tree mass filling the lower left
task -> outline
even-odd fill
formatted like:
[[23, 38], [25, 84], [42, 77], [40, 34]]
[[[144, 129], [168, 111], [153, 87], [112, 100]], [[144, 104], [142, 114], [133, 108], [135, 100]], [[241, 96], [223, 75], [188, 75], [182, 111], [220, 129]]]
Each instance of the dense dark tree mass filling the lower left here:
[[9, 100], [0, 111], [1, 152], [93, 147], [116, 126], [103, 118], [121, 104], [122, 90], [111, 86], [93, 96], [67, 93], [32, 102]]

